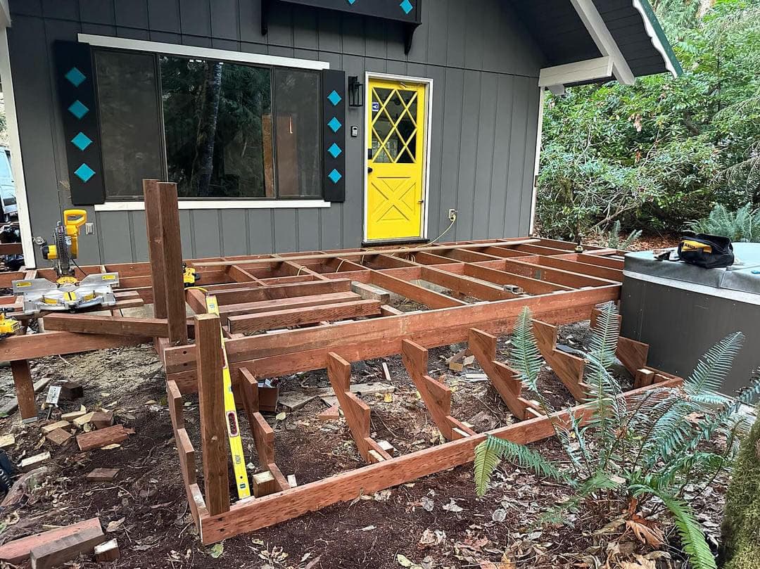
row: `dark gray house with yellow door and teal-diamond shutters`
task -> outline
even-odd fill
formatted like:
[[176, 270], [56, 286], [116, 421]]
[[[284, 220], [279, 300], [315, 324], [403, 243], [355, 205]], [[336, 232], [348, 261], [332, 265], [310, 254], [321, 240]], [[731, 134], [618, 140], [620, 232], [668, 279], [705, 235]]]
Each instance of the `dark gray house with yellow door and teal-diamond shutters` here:
[[[647, 0], [2, 0], [30, 237], [147, 258], [141, 180], [186, 258], [526, 235], [543, 90], [680, 71]], [[18, 150], [21, 150], [20, 152]], [[38, 258], [39, 261], [39, 258]]]

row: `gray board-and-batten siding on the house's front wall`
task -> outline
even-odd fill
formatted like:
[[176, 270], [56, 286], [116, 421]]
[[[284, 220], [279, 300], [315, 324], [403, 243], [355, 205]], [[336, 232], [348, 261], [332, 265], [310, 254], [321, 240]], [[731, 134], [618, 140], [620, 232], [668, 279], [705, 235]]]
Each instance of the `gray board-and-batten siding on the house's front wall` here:
[[[426, 0], [404, 55], [401, 26], [277, 5], [261, 36], [259, 0], [11, 0], [11, 70], [32, 233], [49, 235], [70, 207], [52, 43], [78, 33], [231, 49], [430, 77], [433, 85], [428, 236], [445, 240], [527, 234], [543, 55], [505, 0]], [[181, 210], [185, 258], [353, 248], [363, 239], [365, 108], [347, 109], [346, 201], [319, 209]], [[80, 260], [147, 259], [143, 211], [87, 208], [97, 239]], [[38, 258], [38, 264], [46, 266]]]

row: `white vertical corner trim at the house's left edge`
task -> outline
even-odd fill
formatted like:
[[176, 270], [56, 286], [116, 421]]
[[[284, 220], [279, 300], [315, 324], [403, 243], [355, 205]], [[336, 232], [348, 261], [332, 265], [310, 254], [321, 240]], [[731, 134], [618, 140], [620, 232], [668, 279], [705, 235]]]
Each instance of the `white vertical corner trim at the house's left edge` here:
[[32, 242], [32, 226], [29, 219], [27, 184], [24, 179], [24, 161], [21, 159], [21, 138], [18, 134], [16, 97], [13, 93], [11, 55], [8, 49], [8, 30], [5, 27], [0, 27], [0, 82], [2, 82], [3, 98], [5, 99], [5, 119], [8, 123], [8, 142], [11, 147], [11, 168], [13, 169], [13, 181], [16, 189], [18, 226], [21, 230], [24, 266], [27, 269], [33, 269], [36, 267], [36, 261], [34, 259], [34, 244]]

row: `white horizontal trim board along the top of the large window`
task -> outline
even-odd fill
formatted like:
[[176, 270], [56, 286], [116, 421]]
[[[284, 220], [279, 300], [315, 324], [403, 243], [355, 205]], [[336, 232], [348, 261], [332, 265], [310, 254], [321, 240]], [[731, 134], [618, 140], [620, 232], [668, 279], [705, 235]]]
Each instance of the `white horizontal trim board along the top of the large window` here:
[[129, 40], [125, 37], [96, 36], [90, 33], [78, 34], [81, 43], [90, 46], [109, 47], [113, 49], [131, 49], [137, 52], [163, 53], [166, 55], [185, 55], [203, 59], [220, 59], [226, 62], [253, 63], [259, 65], [276, 65], [278, 67], [295, 67], [300, 69], [329, 69], [328, 62], [317, 62], [313, 59], [298, 59], [264, 55], [261, 53], [233, 52], [229, 49], [213, 49], [210, 47], [181, 46], [176, 43], [150, 42], [147, 40]]

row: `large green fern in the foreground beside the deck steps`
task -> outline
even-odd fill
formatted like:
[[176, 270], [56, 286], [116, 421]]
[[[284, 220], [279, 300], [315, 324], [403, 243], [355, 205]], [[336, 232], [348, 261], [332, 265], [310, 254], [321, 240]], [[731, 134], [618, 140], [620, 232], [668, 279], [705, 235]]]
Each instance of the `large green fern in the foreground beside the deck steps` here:
[[[619, 318], [610, 302], [600, 309], [587, 354], [584, 381], [591, 387], [587, 399], [590, 416], [570, 412], [559, 419], [559, 414], [540, 400], [568, 466], [546, 460], [525, 445], [489, 435], [475, 449], [477, 494], [486, 494], [492, 473], [501, 460], [508, 460], [571, 488], [571, 497], [541, 521], [561, 522], [562, 514], [590, 499], [607, 504], [610, 517], [626, 509], [644, 517], [664, 510], [676, 526], [692, 567], [714, 569], [714, 556], [683, 492], [686, 485], [706, 488], [718, 474], [730, 469], [738, 448], [737, 435], [747, 426], [736, 412], [760, 394], [760, 373], [735, 399], [720, 395], [743, 343], [743, 334], [736, 332], [699, 359], [682, 388], [654, 387], [626, 400], [620, 397], [620, 386], [610, 373], [616, 362], [618, 336]], [[515, 324], [509, 363], [526, 387], [536, 390], [543, 359], [527, 308]], [[727, 441], [723, 450], [706, 444], [718, 434]]]

